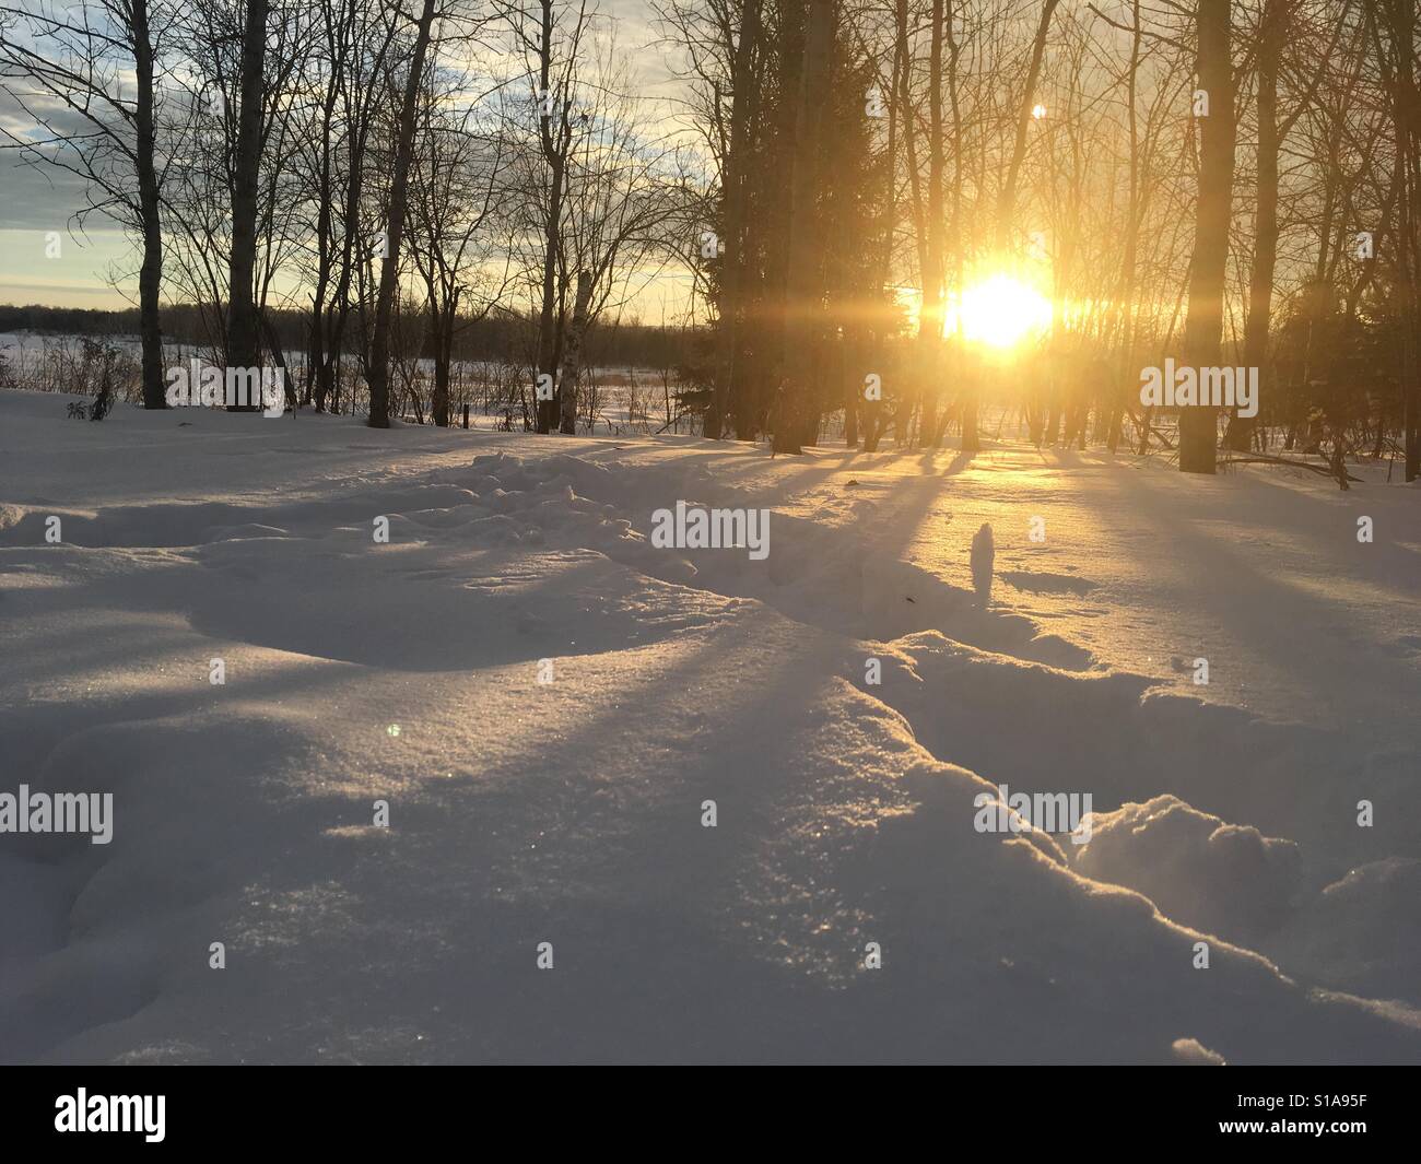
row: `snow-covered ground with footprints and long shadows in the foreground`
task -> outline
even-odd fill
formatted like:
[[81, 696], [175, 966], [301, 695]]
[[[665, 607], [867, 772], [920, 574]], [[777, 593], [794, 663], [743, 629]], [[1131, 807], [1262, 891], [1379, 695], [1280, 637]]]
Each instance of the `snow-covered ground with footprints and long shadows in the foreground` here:
[[1384, 466], [65, 402], [0, 392], [0, 793], [114, 834], [0, 834], [9, 1060], [1421, 1062]]

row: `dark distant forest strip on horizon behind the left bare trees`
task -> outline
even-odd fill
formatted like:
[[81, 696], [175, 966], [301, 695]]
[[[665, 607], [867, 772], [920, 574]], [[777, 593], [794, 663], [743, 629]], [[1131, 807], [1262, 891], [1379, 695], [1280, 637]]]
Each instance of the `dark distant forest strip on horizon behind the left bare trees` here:
[[[287, 352], [300, 355], [306, 345], [310, 316], [304, 311], [269, 310], [271, 325]], [[138, 308], [102, 311], [91, 307], [44, 307], [0, 304], [0, 333], [33, 331], [54, 335], [136, 335]], [[180, 344], [206, 343], [199, 310], [192, 304], [163, 308], [163, 338]], [[462, 323], [453, 338], [455, 360], [526, 362], [533, 354], [537, 323], [514, 313], [489, 316]], [[698, 328], [649, 327], [647, 324], [604, 323], [585, 340], [590, 365], [603, 368], [684, 368], [696, 362], [696, 350], [705, 344]], [[422, 352], [433, 358], [431, 345]]]

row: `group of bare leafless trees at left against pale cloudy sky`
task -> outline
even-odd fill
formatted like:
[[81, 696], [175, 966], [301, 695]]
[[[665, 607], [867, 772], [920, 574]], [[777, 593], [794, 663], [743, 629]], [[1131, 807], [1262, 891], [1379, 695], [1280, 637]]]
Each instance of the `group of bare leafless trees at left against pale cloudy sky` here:
[[175, 325], [229, 367], [298, 354], [293, 406], [325, 409], [354, 362], [374, 426], [448, 425], [458, 354], [522, 337], [529, 388], [568, 385], [536, 426], [571, 431], [590, 328], [666, 355], [628, 313], [691, 262], [705, 198], [628, 70], [583, 0], [36, 0], [0, 7], [31, 121], [0, 146], [135, 239], [149, 408]]

